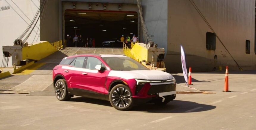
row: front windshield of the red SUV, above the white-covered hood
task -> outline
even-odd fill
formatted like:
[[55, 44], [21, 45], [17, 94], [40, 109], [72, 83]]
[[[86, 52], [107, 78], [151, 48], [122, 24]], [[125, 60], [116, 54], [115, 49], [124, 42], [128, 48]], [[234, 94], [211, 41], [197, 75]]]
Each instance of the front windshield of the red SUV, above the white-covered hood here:
[[102, 59], [114, 71], [149, 70], [141, 63], [129, 57], [103, 57]]

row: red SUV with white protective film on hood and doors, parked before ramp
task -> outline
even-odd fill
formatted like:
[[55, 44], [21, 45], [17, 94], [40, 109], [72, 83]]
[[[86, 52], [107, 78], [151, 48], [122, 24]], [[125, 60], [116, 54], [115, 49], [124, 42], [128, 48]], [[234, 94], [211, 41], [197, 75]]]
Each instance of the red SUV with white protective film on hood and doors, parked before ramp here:
[[171, 74], [149, 70], [124, 55], [65, 57], [53, 68], [53, 84], [60, 101], [77, 95], [109, 100], [118, 110], [146, 102], [167, 104], [176, 97], [176, 81]]

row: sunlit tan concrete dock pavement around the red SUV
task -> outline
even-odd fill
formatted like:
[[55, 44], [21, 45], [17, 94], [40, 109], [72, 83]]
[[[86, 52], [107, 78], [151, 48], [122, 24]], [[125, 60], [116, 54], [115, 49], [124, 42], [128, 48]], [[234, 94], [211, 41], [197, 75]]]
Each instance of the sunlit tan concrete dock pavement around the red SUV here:
[[[182, 73], [173, 74], [184, 86]], [[215, 94], [177, 94], [166, 106], [141, 104], [117, 111], [109, 103], [77, 97], [0, 95], [0, 129], [256, 129], [255, 71], [192, 73], [196, 89]], [[179, 86], [177, 85], [177, 86]]]

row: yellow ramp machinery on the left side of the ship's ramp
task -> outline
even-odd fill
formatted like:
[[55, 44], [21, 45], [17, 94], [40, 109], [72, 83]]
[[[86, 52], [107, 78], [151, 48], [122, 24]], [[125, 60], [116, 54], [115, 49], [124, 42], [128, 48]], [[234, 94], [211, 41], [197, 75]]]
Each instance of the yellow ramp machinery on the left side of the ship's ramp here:
[[[18, 71], [33, 65], [35, 61], [43, 59], [63, 47], [62, 40], [54, 43], [40, 41], [31, 44], [23, 43], [21, 40], [15, 40], [13, 46], [3, 46], [4, 57], [0, 77], [17, 73]], [[10, 57], [12, 57], [13, 67], [7, 67]], [[6, 74], [4, 75], [5, 72]]]

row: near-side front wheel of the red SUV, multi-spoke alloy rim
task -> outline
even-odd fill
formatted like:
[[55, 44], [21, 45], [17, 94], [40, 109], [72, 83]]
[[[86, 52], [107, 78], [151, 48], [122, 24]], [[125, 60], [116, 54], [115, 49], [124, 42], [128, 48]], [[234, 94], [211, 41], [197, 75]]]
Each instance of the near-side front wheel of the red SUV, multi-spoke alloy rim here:
[[133, 107], [132, 93], [129, 87], [123, 84], [115, 85], [109, 94], [110, 104], [117, 110], [129, 110]]

